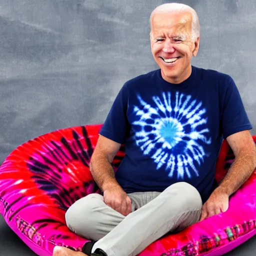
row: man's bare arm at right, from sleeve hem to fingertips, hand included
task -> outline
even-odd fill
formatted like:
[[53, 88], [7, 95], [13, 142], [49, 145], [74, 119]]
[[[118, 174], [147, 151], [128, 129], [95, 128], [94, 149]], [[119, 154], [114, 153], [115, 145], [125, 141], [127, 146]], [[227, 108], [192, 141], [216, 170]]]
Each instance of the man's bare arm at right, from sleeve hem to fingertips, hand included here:
[[250, 177], [256, 167], [256, 147], [248, 130], [236, 132], [226, 140], [233, 150], [234, 162], [203, 204], [200, 220], [226, 211], [229, 196]]

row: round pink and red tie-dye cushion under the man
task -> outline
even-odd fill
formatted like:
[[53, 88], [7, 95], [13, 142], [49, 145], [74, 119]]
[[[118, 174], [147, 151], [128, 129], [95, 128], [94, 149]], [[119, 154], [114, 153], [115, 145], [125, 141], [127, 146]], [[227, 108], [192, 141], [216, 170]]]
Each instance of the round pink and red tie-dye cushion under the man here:
[[[65, 224], [65, 211], [77, 199], [99, 192], [89, 171], [100, 125], [57, 130], [20, 145], [0, 167], [0, 212], [11, 229], [38, 255], [55, 245], [81, 250], [86, 239]], [[256, 136], [253, 136], [256, 141]], [[113, 160], [116, 170], [122, 146]], [[219, 181], [234, 159], [223, 141], [216, 165]], [[256, 175], [230, 197], [226, 212], [167, 234], [139, 256], [222, 255], [256, 232]]]

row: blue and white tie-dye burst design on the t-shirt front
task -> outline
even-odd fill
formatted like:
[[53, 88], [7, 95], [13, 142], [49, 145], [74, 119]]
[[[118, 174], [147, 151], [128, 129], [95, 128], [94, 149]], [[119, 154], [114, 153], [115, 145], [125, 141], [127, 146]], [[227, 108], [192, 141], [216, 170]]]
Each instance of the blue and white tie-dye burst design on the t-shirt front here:
[[169, 177], [176, 173], [178, 179], [191, 178], [191, 172], [198, 176], [196, 165], [207, 155], [203, 145], [211, 143], [206, 109], [191, 95], [162, 92], [161, 96], [153, 96], [150, 105], [137, 95], [140, 104], [133, 108], [132, 123], [136, 145]]

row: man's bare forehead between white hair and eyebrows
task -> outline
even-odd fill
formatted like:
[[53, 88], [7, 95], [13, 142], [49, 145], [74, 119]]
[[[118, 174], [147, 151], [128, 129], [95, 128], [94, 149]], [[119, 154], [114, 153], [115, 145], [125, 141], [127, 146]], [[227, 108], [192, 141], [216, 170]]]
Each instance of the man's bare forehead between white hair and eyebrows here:
[[155, 13], [152, 16], [151, 31], [155, 33], [182, 33], [190, 34], [192, 16], [190, 12]]

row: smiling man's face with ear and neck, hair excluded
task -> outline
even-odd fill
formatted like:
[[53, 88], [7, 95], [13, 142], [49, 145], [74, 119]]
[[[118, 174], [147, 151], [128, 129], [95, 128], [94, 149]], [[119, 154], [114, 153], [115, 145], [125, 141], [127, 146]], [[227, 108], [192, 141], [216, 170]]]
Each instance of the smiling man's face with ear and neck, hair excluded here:
[[199, 37], [191, 39], [189, 12], [155, 13], [151, 23], [151, 51], [164, 80], [180, 83], [191, 74], [191, 57], [196, 56]]

